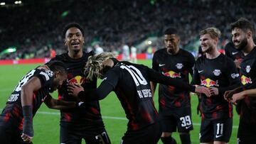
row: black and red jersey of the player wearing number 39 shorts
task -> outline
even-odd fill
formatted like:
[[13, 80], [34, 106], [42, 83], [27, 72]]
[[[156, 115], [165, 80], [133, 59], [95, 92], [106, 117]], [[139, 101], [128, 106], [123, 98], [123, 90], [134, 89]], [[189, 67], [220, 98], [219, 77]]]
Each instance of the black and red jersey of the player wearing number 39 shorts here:
[[[157, 72], [188, 82], [188, 74], [193, 74], [195, 58], [190, 52], [179, 49], [176, 55], [169, 55], [166, 48], [154, 53], [152, 68]], [[190, 94], [178, 87], [159, 84], [159, 111], [168, 113], [169, 109], [191, 106]]]

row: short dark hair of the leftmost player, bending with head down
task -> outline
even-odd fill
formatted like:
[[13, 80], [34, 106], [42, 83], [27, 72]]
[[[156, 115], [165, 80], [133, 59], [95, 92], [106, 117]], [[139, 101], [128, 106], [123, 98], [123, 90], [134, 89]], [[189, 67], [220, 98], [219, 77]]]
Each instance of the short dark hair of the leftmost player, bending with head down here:
[[65, 73], [67, 74], [66, 72], [66, 67], [65, 67], [65, 64], [64, 62], [61, 62], [59, 60], [52, 60], [50, 62], [47, 62], [46, 65], [50, 68], [51, 71], [53, 72], [56, 72], [56, 71], [59, 71], [61, 73]]

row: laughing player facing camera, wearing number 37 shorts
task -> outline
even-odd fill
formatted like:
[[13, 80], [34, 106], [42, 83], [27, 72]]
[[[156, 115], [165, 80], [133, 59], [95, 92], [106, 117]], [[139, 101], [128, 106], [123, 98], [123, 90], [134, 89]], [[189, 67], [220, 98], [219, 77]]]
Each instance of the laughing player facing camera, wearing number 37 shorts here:
[[[97, 87], [97, 79], [88, 81], [83, 74], [87, 58], [93, 52], [82, 50], [84, 31], [78, 23], [68, 23], [63, 30], [64, 43], [68, 52], [56, 55], [52, 60], [60, 60], [65, 63], [68, 72], [68, 82], [65, 82], [58, 91], [59, 99], [65, 101], [75, 100], [67, 91], [67, 84], [78, 84], [84, 89]], [[60, 111], [60, 143], [82, 143], [82, 138], [87, 144], [110, 143], [105, 131], [105, 126], [100, 113], [99, 101], [80, 102], [75, 109]]]

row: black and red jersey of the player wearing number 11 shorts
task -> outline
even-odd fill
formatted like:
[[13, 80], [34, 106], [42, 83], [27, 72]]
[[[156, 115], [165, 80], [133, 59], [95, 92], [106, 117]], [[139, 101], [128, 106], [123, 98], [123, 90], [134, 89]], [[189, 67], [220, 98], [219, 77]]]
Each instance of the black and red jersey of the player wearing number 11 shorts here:
[[202, 118], [215, 120], [233, 116], [232, 104], [223, 97], [225, 91], [240, 86], [240, 76], [233, 60], [223, 54], [214, 59], [208, 59], [205, 55], [198, 57], [192, 84], [218, 88], [218, 96], [201, 95]]

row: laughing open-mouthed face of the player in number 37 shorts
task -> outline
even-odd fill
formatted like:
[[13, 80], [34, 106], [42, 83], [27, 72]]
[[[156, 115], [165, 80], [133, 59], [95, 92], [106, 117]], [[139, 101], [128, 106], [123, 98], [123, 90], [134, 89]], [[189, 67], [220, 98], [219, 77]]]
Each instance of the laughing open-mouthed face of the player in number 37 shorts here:
[[65, 45], [68, 46], [70, 52], [82, 52], [82, 45], [84, 43], [84, 37], [79, 28], [68, 28], [65, 33]]

